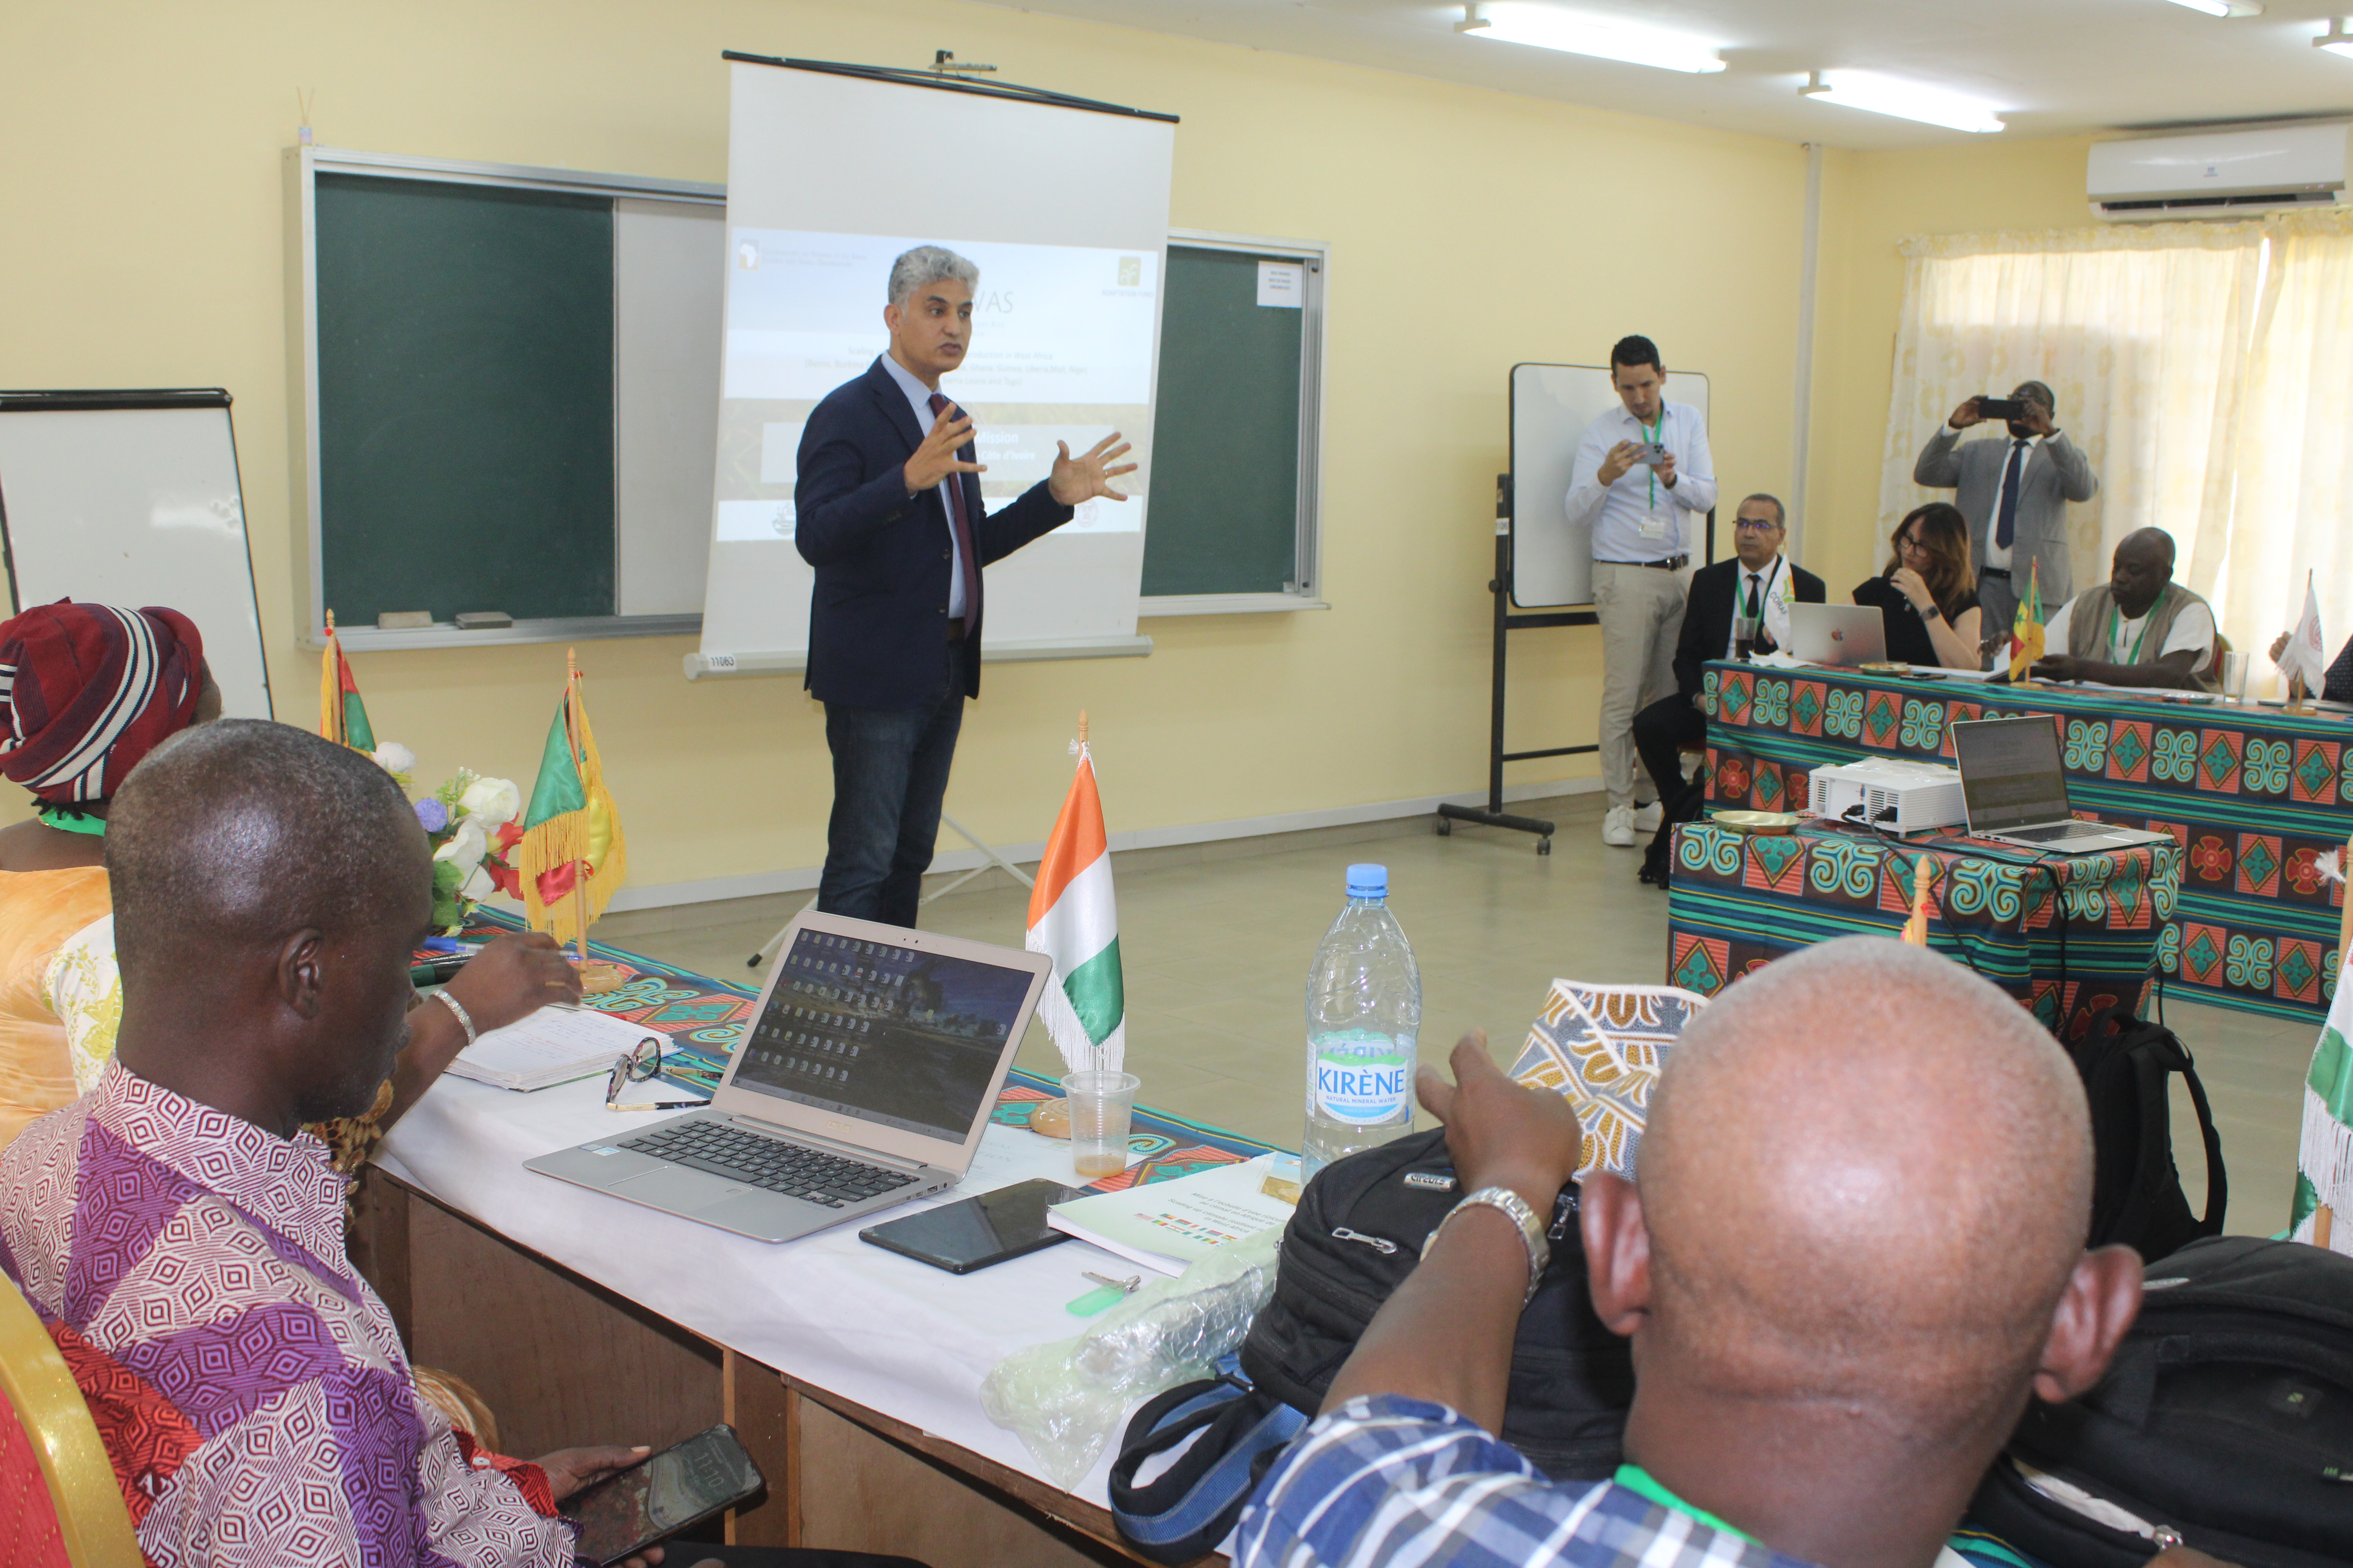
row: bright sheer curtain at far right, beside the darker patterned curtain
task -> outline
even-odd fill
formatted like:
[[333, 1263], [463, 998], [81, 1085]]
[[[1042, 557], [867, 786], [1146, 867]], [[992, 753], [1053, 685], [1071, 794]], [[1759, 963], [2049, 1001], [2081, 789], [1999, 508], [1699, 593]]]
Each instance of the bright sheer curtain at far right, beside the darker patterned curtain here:
[[2329, 654], [2353, 632], [2353, 223], [2292, 214], [2266, 226], [2271, 268], [2233, 433], [2238, 496], [2214, 552], [2231, 642], [2264, 651], [2320, 592]]

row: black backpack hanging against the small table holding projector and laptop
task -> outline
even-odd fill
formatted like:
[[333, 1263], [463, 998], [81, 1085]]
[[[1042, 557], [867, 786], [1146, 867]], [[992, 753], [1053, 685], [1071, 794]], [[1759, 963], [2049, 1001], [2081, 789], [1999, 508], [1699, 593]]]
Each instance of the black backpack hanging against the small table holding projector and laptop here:
[[[2162, 1023], [2134, 1018], [2129, 1006], [2092, 1013], [2082, 1037], [2068, 1044], [2092, 1103], [2092, 1246], [2122, 1241], [2141, 1258], [2165, 1258], [2191, 1241], [2221, 1234], [2228, 1180], [2221, 1168], [2221, 1135], [2207, 1110], [2205, 1084], [2188, 1048]], [[2174, 1168], [2169, 1079], [2181, 1074], [2198, 1107], [2198, 1133], [2207, 1152], [2205, 1218], [2191, 1215]]]

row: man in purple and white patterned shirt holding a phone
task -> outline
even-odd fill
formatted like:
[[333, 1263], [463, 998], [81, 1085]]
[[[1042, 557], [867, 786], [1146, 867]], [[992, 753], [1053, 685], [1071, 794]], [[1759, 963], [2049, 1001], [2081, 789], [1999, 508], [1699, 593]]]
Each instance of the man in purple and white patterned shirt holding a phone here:
[[572, 1563], [555, 1502], [645, 1450], [525, 1465], [424, 1403], [301, 1133], [365, 1112], [407, 1039], [431, 858], [400, 790], [226, 719], [151, 755], [106, 830], [120, 1048], [0, 1154], [0, 1269], [73, 1368], [141, 1552]]

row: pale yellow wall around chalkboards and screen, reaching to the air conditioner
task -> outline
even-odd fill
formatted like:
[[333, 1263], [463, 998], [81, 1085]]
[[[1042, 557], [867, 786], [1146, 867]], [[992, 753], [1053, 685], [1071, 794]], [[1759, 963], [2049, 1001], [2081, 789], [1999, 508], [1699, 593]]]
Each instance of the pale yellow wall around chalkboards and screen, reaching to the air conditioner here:
[[[955, 0], [151, 0], [16, 7], [9, 33], [0, 383], [231, 388], [294, 722], [318, 670], [292, 616], [280, 148], [296, 89], [325, 146], [722, 181], [720, 49], [915, 63], [951, 47], [1007, 80], [1184, 115], [1174, 226], [1332, 244], [1334, 609], [1146, 621], [1146, 661], [991, 665], [948, 809], [1000, 842], [1052, 823], [1080, 708], [1113, 830], [1478, 790], [1515, 360], [1593, 362], [1649, 331], [1713, 381], [1722, 484], [1788, 484], [1793, 143]], [[2078, 143], [1831, 155], [1809, 557], [1833, 581], [1868, 569], [1897, 235], [2082, 221], [2080, 169]], [[581, 644], [633, 882], [814, 865], [821, 712], [791, 677], [687, 684], [687, 649]], [[527, 788], [560, 646], [353, 663], [376, 733], [412, 745], [424, 780], [466, 764]], [[1515, 748], [1591, 736], [1591, 630], [1520, 635], [1515, 670]]]

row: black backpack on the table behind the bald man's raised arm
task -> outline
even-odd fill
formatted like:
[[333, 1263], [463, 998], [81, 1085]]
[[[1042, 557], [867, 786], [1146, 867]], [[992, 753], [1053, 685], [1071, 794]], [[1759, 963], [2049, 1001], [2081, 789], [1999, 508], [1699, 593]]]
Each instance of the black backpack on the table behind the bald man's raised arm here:
[[[1318, 1171], [1282, 1232], [1275, 1295], [1242, 1340], [1252, 1387], [1313, 1415], [1372, 1314], [1461, 1197], [1445, 1128]], [[1633, 1359], [1593, 1316], [1574, 1185], [1553, 1206], [1551, 1241], [1553, 1262], [1511, 1349], [1501, 1439], [1558, 1481], [1598, 1479], [1619, 1465]]]

